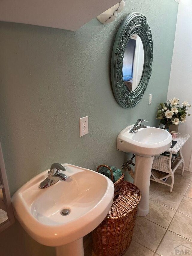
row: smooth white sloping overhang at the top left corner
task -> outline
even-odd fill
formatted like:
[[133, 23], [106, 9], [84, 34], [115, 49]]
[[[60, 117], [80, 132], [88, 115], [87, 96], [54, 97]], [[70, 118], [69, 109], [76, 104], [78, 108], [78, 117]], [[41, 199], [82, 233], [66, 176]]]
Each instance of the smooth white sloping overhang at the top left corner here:
[[75, 31], [117, 0], [0, 0], [0, 20]]

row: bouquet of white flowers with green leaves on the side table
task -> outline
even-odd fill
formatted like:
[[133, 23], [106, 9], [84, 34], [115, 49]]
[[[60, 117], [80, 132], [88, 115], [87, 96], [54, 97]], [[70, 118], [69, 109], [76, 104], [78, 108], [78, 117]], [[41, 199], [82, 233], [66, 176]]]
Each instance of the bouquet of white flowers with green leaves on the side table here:
[[179, 122], [186, 122], [186, 116], [190, 116], [187, 114], [190, 107], [187, 101], [183, 101], [182, 106], [179, 106], [179, 99], [174, 97], [166, 103], [160, 103], [156, 116], [161, 124], [178, 125]]

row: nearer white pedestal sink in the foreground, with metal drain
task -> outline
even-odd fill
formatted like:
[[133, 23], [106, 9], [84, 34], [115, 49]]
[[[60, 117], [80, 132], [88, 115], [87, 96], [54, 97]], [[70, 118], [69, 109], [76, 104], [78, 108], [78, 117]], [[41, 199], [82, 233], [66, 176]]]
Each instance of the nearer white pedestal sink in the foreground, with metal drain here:
[[[83, 256], [83, 237], [106, 217], [113, 203], [114, 185], [106, 176], [63, 164], [66, 181], [40, 189], [44, 171], [12, 197], [16, 218], [38, 243], [55, 246], [57, 256]], [[68, 215], [61, 215], [63, 209]]]

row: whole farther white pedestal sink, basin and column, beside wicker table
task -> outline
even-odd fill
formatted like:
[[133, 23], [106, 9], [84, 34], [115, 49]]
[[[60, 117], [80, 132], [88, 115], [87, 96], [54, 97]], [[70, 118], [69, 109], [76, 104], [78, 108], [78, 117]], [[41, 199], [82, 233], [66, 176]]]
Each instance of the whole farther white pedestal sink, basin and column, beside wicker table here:
[[141, 191], [137, 216], [146, 216], [149, 213], [149, 185], [153, 159], [170, 147], [172, 136], [167, 130], [155, 127], [141, 128], [136, 133], [130, 133], [133, 127], [134, 125], [130, 125], [119, 133], [117, 149], [136, 154], [134, 184]]

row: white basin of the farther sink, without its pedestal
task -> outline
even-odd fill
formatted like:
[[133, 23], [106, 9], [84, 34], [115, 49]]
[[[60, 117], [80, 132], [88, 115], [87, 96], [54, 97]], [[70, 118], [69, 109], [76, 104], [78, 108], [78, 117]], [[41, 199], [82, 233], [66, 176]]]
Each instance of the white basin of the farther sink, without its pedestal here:
[[126, 127], [117, 137], [117, 149], [140, 156], [157, 156], [166, 151], [172, 141], [171, 134], [155, 127], [141, 128], [136, 133], [129, 133], [134, 127]]

